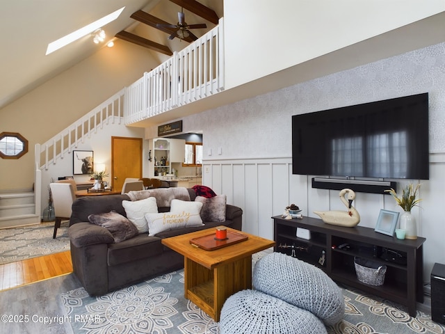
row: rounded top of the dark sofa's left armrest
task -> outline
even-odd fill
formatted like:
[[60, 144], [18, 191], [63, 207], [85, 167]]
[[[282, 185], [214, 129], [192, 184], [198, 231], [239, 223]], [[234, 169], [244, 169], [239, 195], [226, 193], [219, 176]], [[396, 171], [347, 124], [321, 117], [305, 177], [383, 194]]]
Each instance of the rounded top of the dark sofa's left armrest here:
[[76, 223], [68, 229], [70, 241], [76, 247], [95, 244], [113, 244], [113, 235], [102, 226], [92, 223]]

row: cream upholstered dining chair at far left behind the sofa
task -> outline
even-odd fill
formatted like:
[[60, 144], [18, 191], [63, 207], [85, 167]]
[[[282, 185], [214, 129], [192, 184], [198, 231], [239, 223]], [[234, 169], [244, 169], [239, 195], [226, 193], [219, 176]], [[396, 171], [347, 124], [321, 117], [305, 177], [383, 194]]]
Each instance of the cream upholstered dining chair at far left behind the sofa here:
[[56, 239], [57, 229], [60, 228], [62, 220], [68, 220], [71, 217], [72, 203], [76, 200], [76, 195], [70, 182], [50, 183], [49, 189], [51, 189], [56, 216], [53, 234], [53, 239]]

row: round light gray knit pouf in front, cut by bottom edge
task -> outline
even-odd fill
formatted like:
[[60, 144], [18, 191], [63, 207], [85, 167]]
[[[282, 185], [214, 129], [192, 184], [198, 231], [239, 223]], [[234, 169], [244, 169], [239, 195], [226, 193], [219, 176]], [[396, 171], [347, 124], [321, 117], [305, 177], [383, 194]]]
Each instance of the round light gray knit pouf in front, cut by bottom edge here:
[[323, 322], [307, 310], [255, 290], [236, 292], [220, 315], [221, 334], [323, 334]]

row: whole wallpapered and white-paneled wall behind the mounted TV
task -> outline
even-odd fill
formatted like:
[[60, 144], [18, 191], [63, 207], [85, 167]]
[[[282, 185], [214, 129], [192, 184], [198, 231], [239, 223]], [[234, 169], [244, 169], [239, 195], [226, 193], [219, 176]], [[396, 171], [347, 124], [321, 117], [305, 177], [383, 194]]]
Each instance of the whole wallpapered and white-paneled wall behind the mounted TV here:
[[[430, 180], [414, 209], [424, 245], [424, 278], [444, 262], [445, 43], [363, 65], [184, 118], [184, 132], [202, 129], [203, 183], [243, 208], [243, 230], [273, 238], [270, 216], [295, 203], [303, 214], [340, 209], [338, 191], [312, 189], [310, 176], [291, 174], [291, 116], [338, 106], [430, 94]], [[218, 154], [218, 150], [221, 154]], [[211, 151], [211, 155], [209, 152]], [[399, 189], [410, 180], [400, 182]], [[414, 180], [416, 182], [416, 180]], [[358, 193], [359, 225], [374, 228], [380, 209], [398, 210], [391, 196]]]

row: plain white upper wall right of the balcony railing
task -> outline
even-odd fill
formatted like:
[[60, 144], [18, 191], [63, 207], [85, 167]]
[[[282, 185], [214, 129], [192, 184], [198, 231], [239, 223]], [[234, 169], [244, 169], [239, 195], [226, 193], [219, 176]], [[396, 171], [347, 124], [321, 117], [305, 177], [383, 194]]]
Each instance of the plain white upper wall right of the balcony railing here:
[[225, 0], [226, 89], [443, 10], [442, 0]]

